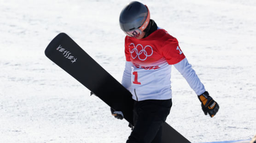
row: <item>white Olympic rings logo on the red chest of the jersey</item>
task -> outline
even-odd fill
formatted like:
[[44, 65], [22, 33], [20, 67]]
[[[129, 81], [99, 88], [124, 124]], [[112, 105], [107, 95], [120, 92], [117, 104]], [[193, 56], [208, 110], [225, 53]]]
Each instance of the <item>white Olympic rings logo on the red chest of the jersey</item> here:
[[[134, 45], [134, 43], [131, 43], [130, 45]], [[130, 47], [130, 45], [129, 45], [129, 47]], [[140, 47], [142, 48], [140, 51], [137, 49], [138, 46], [140, 46]], [[149, 48], [151, 49], [151, 53], [147, 53], [147, 51], [145, 50], [147, 47], [149, 47]], [[129, 51], [130, 51], [131, 57], [132, 57], [133, 59], [135, 59], [136, 57], [138, 57], [138, 59], [140, 59], [140, 60], [146, 60], [147, 57], [153, 55], [153, 49], [152, 49], [152, 47], [151, 47], [150, 45], [146, 45], [146, 46], [143, 48], [143, 46], [142, 46], [141, 44], [137, 44], [136, 47], [135, 47], [135, 45], [134, 45], [134, 49], [131, 50], [131, 49], [129, 48]], [[133, 56], [133, 53], [134, 53], [134, 52], [135, 52], [135, 54], [136, 54], [135, 57]], [[143, 55], [145, 56], [145, 58], [141, 57], [141, 56], [140, 56], [141, 54], [143, 54]], [[142, 58], [142, 59], [141, 59], [141, 58]]]

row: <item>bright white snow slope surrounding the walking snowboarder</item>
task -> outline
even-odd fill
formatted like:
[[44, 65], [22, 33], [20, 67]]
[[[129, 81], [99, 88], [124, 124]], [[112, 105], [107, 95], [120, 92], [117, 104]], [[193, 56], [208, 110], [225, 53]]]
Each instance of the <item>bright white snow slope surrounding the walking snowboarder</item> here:
[[[125, 143], [130, 128], [44, 55], [70, 35], [119, 82], [128, 0], [0, 0], [0, 143]], [[197, 95], [173, 68], [167, 123], [193, 143], [250, 139], [256, 133], [256, 0], [141, 0], [151, 19], [179, 40], [210, 95]], [[88, 67], [90, 70], [90, 67]]]

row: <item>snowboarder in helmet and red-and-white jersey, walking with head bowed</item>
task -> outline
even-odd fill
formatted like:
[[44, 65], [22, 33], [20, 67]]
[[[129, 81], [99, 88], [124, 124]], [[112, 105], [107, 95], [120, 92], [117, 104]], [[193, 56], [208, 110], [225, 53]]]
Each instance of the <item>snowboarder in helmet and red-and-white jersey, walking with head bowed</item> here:
[[[150, 19], [147, 6], [133, 1], [119, 17], [125, 37], [126, 64], [122, 85], [134, 99], [134, 129], [126, 143], [161, 143], [162, 125], [172, 106], [171, 65], [198, 95], [204, 114], [213, 117], [219, 105], [200, 82], [176, 38]], [[123, 119], [121, 111], [112, 115]]]

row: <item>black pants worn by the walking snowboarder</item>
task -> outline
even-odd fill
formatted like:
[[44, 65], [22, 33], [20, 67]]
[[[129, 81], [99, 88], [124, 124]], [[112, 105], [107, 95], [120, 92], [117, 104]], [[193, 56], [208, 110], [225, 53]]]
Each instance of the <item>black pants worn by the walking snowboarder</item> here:
[[162, 125], [170, 113], [172, 99], [134, 102], [134, 130], [126, 143], [161, 143]]

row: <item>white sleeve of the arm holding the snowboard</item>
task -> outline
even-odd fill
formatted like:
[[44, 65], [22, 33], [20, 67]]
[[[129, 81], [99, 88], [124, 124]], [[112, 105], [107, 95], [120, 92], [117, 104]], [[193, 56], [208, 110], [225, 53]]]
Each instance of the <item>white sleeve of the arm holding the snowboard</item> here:
[[130, 61], [126, 61], [125, 63], [125, 68], [123, 71], [123, 75], [122, 75], [122, 86], [124, 86], [126, 89], [128, 89], [130, 91], [130, 87], [131, 87], [131, 76], [132, 76], [132, 66], [133, 63]]

